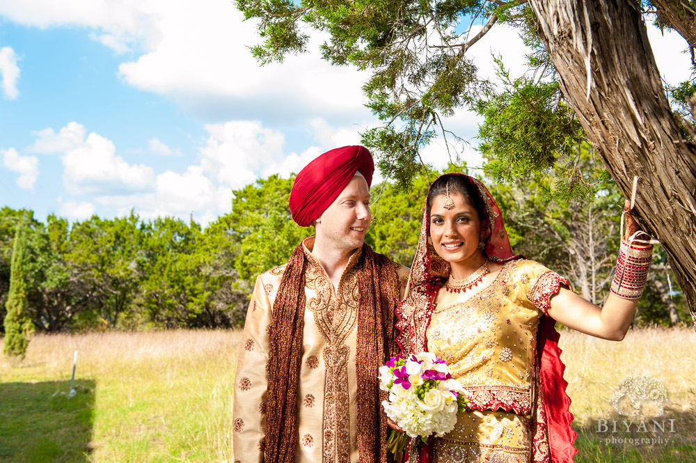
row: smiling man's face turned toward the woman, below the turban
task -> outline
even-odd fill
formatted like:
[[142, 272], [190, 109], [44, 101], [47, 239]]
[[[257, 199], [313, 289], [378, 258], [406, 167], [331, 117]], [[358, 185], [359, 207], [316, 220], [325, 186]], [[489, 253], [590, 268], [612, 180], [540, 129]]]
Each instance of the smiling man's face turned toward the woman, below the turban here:
[[356, 175], [317, 219], [317, 240], [350, 251], [363, 245], [368, 225], [370, 189], [365, 179]]

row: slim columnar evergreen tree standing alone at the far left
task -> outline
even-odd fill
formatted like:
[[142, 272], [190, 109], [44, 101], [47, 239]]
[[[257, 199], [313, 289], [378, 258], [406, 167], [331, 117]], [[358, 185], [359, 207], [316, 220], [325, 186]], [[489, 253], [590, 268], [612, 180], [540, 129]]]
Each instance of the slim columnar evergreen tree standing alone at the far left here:
[[8, 357], [24, 359], [29, 344], [31, 319], [27, 315], [26, 301], [26, 225], [19, 223], [15, 230], [10, 266], [10, 290], [6, 303], [5, 339], [3, 353]]

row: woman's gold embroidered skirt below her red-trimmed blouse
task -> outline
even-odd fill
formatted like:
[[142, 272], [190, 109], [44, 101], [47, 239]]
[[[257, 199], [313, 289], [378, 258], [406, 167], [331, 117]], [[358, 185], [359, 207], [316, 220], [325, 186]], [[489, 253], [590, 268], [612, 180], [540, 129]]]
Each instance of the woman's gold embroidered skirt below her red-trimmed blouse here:
[[532, 434], [525, 418], [506, 411], [464, 411], [454, 430], [435, 439], [434, 463], [528, 463]]

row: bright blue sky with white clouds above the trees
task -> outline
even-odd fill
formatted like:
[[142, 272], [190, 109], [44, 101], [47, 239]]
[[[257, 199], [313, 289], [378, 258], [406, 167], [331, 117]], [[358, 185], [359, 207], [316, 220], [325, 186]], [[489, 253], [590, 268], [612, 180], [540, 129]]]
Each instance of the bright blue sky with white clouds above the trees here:
[[[480, 70], [492, 74], [496, 52], [522, 72], [514, 31], [493, 32], [468, 52]], [[362, 105], [366, 74], [322, 61], [321, 40], [260, 68], [246, 48], [253, 24], [228, 0], [0, 0], [0, 205], [39, 219], [134, 209], [207, 223], [232, 189], [297, 171], [377, 123]], [[672, 81], [688, 76], [681, 38], [651, 41]], [[450, 119], [466, 138], [477, 121]], [[425, 156], [441, 167], [443, 152], [436, 142]]]

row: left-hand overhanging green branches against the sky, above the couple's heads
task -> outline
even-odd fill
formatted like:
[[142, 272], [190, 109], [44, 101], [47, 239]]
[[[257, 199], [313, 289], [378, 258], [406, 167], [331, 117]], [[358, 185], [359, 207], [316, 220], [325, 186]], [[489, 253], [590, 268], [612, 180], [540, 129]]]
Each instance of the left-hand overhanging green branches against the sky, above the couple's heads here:
[[487, 87], [460, 52], [467, 31], [459, 22], [509, 8], [480, 0], [238, 0], [237, 6], [246, 19], [259, 20], [264, 42], [253, 54], [261, 63], [305, 51], [308, 36], [299, 31], [306, 25], [329, 35], [321, 46], [326, 60], [372, 70], [363, 90], [367, 107], [384, 125], [365, 132], [363, 144], [399, 187], [427, 170], [418, 153], [434, 136], [445, 136], [441, 119], [473, 104]]

